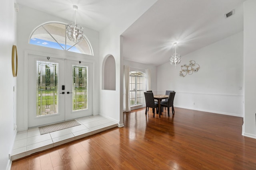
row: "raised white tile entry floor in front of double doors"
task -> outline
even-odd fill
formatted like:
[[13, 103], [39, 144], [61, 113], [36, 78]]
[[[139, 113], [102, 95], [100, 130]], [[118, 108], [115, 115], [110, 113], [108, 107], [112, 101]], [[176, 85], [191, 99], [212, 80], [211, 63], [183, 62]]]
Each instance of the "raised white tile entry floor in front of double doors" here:
[[76, 121], [81, 125], [44, 135], [40, 135], [38, 127], [18, 132], [14, 141], [11, 160], [16, 160], [118, 126], [118, 123], [100, 115], [81, 117], [76, 119]]

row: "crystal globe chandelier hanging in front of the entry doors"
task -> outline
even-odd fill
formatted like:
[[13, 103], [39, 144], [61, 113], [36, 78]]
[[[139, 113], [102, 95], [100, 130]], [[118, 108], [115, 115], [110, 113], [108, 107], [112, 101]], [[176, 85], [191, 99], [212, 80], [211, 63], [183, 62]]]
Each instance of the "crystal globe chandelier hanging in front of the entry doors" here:
[[70, 22], [66, 25], [66, 36], [70, 41], [79, 43], [84, 38], [84, 28], [76, 23], [76, 10], [78, 10], [78, 6], [73, 5], [73, 9], [75, 10], [75, 23]]

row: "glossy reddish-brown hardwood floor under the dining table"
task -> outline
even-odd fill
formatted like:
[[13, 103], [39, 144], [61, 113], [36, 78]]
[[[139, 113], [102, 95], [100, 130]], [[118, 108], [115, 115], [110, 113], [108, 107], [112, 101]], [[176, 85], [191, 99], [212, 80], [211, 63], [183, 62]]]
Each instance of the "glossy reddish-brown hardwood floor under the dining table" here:
[[252, 170], [256, 139], [244, 137], [242, 118], [175, 107], [124, 113], [124, 127], [12, 162], [11, 170]]

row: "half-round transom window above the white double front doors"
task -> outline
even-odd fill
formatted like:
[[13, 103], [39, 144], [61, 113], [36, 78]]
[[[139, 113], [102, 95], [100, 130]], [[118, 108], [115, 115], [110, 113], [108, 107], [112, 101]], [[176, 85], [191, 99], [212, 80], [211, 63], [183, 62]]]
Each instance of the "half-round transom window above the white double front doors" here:
[[29, 43], [44, 47], [72, 51], [75, 53], [93, 55], [92, 47], [87, 37], [79, 43], [74, 43], [66, 38], [66, 24], [44, 23], [31, 33]]

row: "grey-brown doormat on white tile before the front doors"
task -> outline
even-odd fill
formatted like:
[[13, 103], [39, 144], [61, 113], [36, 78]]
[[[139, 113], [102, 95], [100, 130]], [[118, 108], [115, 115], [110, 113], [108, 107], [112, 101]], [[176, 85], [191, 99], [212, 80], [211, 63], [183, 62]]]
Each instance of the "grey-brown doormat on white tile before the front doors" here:
[[40, 134], [43, 135], [46, 133], [51, 133], [54, 131], [59, 131], [62, 129], [66, 129], [66, 128], [74, 127], [74, 126], [78, 126], [78, 125], [81, 125], [81, 124], [78, 123], [76, 120], [70, 120], [70, 121], [64, 121], [61, 123], [55, 123], [52, 125], [41, 126], [41, 127], [39, 127], [39, 131], [40, 131]]

